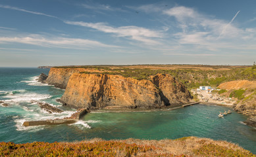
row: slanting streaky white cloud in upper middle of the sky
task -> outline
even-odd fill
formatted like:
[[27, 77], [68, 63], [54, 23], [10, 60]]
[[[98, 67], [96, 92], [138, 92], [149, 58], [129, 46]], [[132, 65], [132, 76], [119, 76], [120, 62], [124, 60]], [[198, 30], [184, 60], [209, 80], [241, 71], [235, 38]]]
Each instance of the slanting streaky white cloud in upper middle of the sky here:
[[88, 23], [88, 22], [70, 22], [65, 21], [66, 24], [91, 27], [97, 29], [98, 31], [103, 31], [105, 33], [114, 33], [117, 37], [130, 37], [136, 41], [141, 41], [145, 44], [160, 44], [153, 38], [162, 38], [163, 34], [159, 31], [153, 31], [146, 29], [144, 27], [137, 26], [123, 26], [123, 27], [111, 27], [107, 26], [105, 23]]

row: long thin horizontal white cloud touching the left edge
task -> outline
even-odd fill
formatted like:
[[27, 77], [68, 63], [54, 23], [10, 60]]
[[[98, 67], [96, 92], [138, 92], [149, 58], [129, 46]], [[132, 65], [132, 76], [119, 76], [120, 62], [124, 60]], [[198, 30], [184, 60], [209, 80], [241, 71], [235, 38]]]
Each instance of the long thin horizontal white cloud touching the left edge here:
[[0, 37], [0, 44], [1, 43], [22, 43], [44, 47], [73, 48], [79, 50], [97, 47], [118, 47], [103, 44], [98, 41], [90, 41], [88, 39], [74, 39], [64, 37], [45, 38], [41, 35], [26, 35], [24, 37]]

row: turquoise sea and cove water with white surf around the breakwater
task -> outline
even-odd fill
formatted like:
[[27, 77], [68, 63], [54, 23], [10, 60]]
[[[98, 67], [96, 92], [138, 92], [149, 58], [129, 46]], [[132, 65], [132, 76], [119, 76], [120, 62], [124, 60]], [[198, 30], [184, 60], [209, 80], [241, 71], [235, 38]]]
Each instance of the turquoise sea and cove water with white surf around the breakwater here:
[[[90, 113], [76, 124], [23, 127], [25, 120], [62, 118], [74, 109], [56, 101], [64, 90], [36, 82], [40, 73], [49, 69], [0, 68], [0, 141], [27, 143], [33, 141], [79, 141], [102, 139], [176, 139], [184, 136], [209, 137], [237, 143], [256, 154], [256, 130], [243, 124], [247, 116], [232, 111], [218, 118], [227, 107], [193, 105], [173, 111], [142, 113]], [[61, 114], [42, 111], [36, 103], [47, 102], [64, 110]]]

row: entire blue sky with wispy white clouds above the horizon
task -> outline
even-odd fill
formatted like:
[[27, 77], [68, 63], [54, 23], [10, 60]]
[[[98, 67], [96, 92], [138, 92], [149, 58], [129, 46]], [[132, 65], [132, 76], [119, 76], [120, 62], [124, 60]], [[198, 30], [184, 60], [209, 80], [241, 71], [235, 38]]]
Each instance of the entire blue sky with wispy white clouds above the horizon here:
[[0, 1], [0, 67], [253, 61], [255, 0]]

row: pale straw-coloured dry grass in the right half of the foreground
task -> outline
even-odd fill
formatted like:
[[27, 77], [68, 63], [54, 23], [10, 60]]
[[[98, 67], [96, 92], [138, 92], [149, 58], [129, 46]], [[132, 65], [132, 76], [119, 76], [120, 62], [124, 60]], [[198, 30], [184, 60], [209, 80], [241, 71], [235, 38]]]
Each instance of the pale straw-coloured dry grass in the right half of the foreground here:
[[[198, 138], [198, 137], [182, 137], [180, 139], [163, 139], [160, 141], [157, 140], [140, 140], [140, 139], [126, 139], [124, 142], [132, 144], [136, 143], [137, 145], [153, 145], [160, 147], [161, 149], [155, 150], [157, 154], [167, 154], [172, 153], [174, 156], [209, 156], [209, 152], [214, 154], [218, 152], [218, 149], [223, 150], [232, 150], [240, 156], [255, 156], [251, 154], [248, 150], [239, 147], [233, 143], [228, 143], [227, 141], [214, 141], [213, 139], [207, 138]], [[213, 146], [209, 150], [202, 150], [205, 146]], [[216, 149], [215, 149], [216, 148]], [[201, 154], [197, 153], [200, 152]], [[205, 154], [205, 155], [203, 155]], [[236, 154], [230, 154], [230, 152], [223, 152], [219, 154], [220, 156], [236, 156]], [[213, 155], [214, 156], [214, 155]]]

